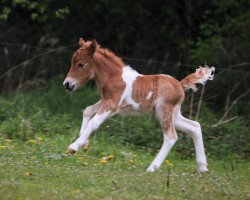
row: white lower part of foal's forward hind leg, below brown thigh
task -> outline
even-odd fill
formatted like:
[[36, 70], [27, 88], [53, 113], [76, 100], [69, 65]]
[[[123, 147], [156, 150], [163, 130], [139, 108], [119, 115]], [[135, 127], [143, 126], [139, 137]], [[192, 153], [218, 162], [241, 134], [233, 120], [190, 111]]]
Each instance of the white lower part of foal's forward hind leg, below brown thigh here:
[[164, 136], [164, 141], [163, 145], [161, 147], [161, 150], [159, 151], [158, 155], [156, 158], [153, 160], [153, 162], [150, 164], [150, 166], [147, 169], [147, 172], [154, 172], [156, 169], [159, 169], [162, 162], [168, 155], [170, 149], [174, 146], [175, 142], [177, 141], [176, 139], [170, 139], [167, 134], [163, 134]]

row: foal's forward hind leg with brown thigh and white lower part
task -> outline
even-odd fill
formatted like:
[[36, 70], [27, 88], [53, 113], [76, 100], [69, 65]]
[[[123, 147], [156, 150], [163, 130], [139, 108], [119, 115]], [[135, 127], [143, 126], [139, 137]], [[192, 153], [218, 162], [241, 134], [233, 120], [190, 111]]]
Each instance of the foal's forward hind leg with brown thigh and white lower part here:
[[158, 155], [148, 167], [147, 172], [154, 172], [155, 169], [160, 168], [170, 149], [177, 141], [178, 136], [172, 122], [173, 112], [174, 106], [172, 105], [160, 105], [156, 107], [156, 115], [163, 129], [163, 144]]

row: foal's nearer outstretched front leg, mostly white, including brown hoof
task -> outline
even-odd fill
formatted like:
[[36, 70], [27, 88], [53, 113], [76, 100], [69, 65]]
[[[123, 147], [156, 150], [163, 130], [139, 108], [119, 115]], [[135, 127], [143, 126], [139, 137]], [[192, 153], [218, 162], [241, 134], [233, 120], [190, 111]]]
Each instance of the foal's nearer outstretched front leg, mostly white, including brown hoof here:
[[114, 113], [114, 109], [102, 104], [96, 115], [88, 122], [87, 127], [81, 133], [80, 137], [68, 148], [68, 153], [75, 153], [81, 146], [87, 143], [90, 134], [99, 128], [99, 126]]

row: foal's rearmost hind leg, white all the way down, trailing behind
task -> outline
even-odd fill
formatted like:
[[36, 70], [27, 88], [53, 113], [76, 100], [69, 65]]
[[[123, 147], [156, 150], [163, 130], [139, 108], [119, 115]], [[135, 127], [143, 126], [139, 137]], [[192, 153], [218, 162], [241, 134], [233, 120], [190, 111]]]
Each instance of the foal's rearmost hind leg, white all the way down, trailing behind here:
[[198, 169], [200, 172], [207, 172], [207, 159], [205, 155], [200, 124], [196, 121], [184, 118], [181, 115], [179, 109], [176, 110], [175, 113], [174, 125], [177, 130], [188, 133], [193, 138]]

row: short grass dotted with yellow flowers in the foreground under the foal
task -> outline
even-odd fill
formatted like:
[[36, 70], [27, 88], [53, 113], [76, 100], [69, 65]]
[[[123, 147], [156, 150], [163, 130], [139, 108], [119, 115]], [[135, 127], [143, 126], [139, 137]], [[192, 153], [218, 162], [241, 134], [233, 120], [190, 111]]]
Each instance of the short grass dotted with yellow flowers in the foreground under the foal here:
[[[88, 151], [73, 156], [65, 154], [72, 134], [40, 136], [37, 144], [1, 137], [1, 200], [250, 198], [250, 162], [209, 160], [210, 172], [200, 175], [194, 160], [172, 153], [171, 164], [151, 174], [145, 170], [154, 153], [104, 132], [92, 136]], [[108, 155], [114, 157], [100, 163]]]

